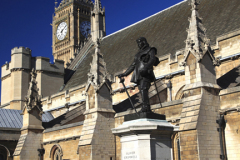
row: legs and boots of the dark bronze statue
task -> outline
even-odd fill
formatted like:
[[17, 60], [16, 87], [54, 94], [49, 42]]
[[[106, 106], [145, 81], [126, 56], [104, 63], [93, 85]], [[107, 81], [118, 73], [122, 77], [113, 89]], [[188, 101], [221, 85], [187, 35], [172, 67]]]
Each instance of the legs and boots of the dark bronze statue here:
[[150, 88], [150, 82], [142, 80], [138, 86], [139, 92], [142, 96], [142, 109], [141, 112], [151, 112], [150, 104], [149, 104], [149, 97], [148, 97], [148, 90]]

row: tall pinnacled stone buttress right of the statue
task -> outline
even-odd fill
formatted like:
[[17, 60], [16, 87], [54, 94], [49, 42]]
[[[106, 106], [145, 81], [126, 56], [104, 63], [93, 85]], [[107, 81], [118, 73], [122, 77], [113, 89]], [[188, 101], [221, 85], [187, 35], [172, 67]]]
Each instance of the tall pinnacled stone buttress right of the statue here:
[[199, 17], [196, 0], [191, 0], [192, 15], [183, 65], [186, 85], [183, 89], [183, 109], [180, 120], [180, 148], [182, 159], [220, 158], [217, 131], [219, 90], [210, 40]]

